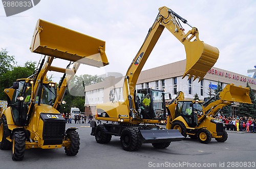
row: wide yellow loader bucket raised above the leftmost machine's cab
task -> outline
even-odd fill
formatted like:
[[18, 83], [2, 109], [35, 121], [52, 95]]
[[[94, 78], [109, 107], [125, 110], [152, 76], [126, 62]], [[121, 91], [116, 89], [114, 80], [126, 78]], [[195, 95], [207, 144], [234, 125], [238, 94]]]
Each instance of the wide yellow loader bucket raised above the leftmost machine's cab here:
[[39, 19], [30, 50], [95, 67], [108, 65], [105, 41]]

